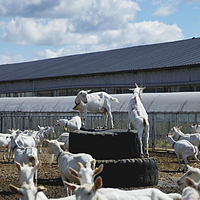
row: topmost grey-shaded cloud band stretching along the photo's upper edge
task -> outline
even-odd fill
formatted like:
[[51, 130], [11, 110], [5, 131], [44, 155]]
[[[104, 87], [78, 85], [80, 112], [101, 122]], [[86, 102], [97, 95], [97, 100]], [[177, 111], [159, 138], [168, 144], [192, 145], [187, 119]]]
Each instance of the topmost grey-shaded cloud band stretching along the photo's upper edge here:
[[123, 22], [139, 10], [138, 3], [130, 0], [0, 0], [0, 16], [65, 18], [93, 24], [116, 17]]

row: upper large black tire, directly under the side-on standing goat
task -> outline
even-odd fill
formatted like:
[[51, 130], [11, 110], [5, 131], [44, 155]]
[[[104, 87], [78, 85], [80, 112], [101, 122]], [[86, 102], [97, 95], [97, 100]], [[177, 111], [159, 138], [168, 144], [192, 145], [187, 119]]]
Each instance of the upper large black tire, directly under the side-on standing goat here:
[[140, 157], [137, 133], [126, 130], [70, 132], [69, 151], [89, 153], [99, 160]]

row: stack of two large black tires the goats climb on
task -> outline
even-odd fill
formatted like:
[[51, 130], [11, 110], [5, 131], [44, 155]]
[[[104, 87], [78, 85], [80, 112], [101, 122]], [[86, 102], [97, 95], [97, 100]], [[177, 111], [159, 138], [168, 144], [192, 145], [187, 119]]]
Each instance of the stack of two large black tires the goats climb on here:
[[88, 153], [104, 164], [104, 187], [152, 186], [158, 183], [156, 158], [140, 158], [137, 133], [125, 130], [75, 131], [69, 135], [69, 151]]

